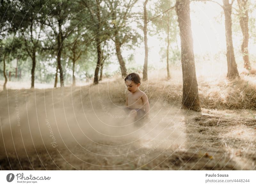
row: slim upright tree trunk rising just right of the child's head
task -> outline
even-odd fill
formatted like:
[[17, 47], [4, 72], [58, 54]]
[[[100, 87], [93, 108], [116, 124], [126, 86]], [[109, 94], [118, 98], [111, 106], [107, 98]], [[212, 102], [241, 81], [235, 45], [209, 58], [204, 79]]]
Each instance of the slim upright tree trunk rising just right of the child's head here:
[[144, 66], [143, 66], [143, 80], [148, 80], [148, 37], [147, 37], [147, 30], [148, 30], [148, 12], [147, 12], [147, 3], [148, 0], [144, 2], [144, 45], [145, 45], [145, 58], [144, 58]]

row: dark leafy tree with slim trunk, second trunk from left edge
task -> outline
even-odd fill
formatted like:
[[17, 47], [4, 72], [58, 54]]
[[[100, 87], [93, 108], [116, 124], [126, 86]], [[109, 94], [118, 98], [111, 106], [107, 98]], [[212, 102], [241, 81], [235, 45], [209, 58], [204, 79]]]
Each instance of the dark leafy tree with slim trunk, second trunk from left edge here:
[[[35, 82], [36, 53], [40, 49], [40, 36], [43, 28], [43, 1], [34, 2], [30, 6], [24, 1], [16, 0], [8, 7], [4, 14], [5, 21], [9, 23], [9, 34], [17, 32], [24, 39], [24, 50], [32, 59], [31, 88]], [[13, 17], [14, 15], [14, 17]], [[20, 37], [16, 39], [20, 40]], [[14, 40], [14, 43], [16, 42]], [[17, 73], [17, 72], [16, 72]]]

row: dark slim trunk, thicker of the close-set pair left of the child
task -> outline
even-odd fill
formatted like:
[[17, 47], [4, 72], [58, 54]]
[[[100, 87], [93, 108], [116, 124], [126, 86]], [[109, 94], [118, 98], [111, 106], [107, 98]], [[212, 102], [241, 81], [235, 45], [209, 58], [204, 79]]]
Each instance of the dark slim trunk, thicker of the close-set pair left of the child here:
[[60, 21], [58, 21], [59, 23], [59, 34], [57, 36], [57, 40], [58, 40], [58, 53], [57, 53], [57, 64], [58, 64], [58, 68], [60, 70], [60, 87], [64, 87], [64, 76], [63, 76], [63, 71], [62, 71], [62, 67], [61, 67], [61, 51], [62, 51], [62, 31], [61, 31], [61, 24]]

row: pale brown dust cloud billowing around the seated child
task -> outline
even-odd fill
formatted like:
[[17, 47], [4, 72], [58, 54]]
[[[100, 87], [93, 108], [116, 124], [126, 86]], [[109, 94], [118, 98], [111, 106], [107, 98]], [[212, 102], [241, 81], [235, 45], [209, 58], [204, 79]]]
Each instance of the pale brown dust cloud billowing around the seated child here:
[[[96, 89], [96, 88], [94, 88]], [[164, 151], [185, 141], [179, 108], [150, 103], [150, 121], [134, 123], [109, 95], [85, 88], [2, 92], [0, 146], [6, 151], [61, 146], [133, 146]], [[107, 152], [106, 152], [107, 153]]]

